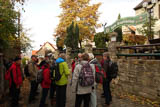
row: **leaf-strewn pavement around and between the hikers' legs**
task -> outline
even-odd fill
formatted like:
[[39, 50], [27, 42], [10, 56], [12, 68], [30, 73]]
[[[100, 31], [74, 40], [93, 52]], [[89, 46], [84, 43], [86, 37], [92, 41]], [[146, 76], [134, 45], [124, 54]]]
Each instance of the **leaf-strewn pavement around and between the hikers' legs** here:
[[[39, 86], [40, 87], [40, 86]], [[101, 87], [101, 86], [99, 86]], [[75, 104], [75, 94], [73, 94], [71, 92], [71, 86], [68, 85], [67, 87], [67, 102], [66, 102], [66, 107], [74, 107]], [[25, 91], [24, 91], [25, 90]], [[39, 91], [41, 90], [41, 88], [39, 88]], [[40, 91], [41, 93], [41, 91]], [[97, 96], [98, 96], [98, 107], [105, 107], [104, 106], [104, 98], [101, 98], [101, 93], [102, 93], [102, 89], [98, 88], [97, 89]], [[41, 95], [37, 96], [37, 100], [34, 104], [27, 104], [28, 101], [28, 95], [29, 95], [29, 83], [27, 80], [25, 80], [25, 83], [22, 87], [22, 93], [21, 93], [21, 101], [20, 101], [20, 107], [38, 107], [39, 106], [39, 102], [40, 102], [40, 97]], [[7, 97], [5, 99], [5, 101], [3, 102], [3, 104], [0, 104], [0, 107], [9, 107], [9, 97]], [[55, 107], [55, 106], [51, 106], [50, 105], [50, 100], [49, 98], [47, 98], [46, 103], [48, 104], [48, 107]], [[122, 99], [120, 97], [116, 97], [113, 95], [113, 102], [111, 104], [110, 107], [153, 107], [151, 105], [142, 105], [140, 103], [136, 103], [136, 102], [132, 102], [130, 99]]]

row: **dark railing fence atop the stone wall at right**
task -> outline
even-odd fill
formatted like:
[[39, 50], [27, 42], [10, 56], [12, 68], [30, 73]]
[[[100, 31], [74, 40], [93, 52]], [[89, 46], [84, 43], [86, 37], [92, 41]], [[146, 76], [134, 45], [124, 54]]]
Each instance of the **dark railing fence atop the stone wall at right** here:
[[144, 57], [146, 59], [160, 59], [160, 43], [151, 45], [136, 45], [136, 46], [119, 46], [117, 47], [117, 56], [124, 57]]

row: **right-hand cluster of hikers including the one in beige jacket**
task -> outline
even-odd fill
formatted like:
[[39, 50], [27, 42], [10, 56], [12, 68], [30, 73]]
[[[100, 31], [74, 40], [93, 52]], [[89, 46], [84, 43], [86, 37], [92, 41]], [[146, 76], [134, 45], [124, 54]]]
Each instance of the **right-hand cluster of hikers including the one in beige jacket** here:
[[[81, 107], [82, 102], [84, 107], [97, 107], [96, 88], [98, 83], [103, 84], [102, 97], [105, 98], [105, 107], [110, 106], [112, 102], [112, 95], [110, 91], [110, 82], [112, 78], [109, 73], [110, 62], [111, 60], [108, 52], [103, 53], [103, 59], [101, 61], [98, 61], [92, 53], [78, 54], [78, 58], [75, 57], [75, 60], [72, 61], [73, 76], [71, 81], [73, 93], [76, 93], [75, 107]], [[92, 69], [94, 83], [89, 86], [84, 86], [80, 84], [80, 77], [82, 69], [87, 65]], [[96, 73], [101, 74], [102, 81], [96, 81], [98, 78]], [[90, 79], [91, 77], [88, 78]]]

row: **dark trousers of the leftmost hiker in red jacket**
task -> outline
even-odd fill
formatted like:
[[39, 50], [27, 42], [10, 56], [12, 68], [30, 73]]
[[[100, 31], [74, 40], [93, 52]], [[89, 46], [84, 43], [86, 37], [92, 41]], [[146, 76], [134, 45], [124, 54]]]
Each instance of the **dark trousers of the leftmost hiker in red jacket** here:
[[11, 86], [11, 107], [18, 107], [19, 103], [19, 94], [20, 94], [20, 89], [16, 88], [16, 86]]

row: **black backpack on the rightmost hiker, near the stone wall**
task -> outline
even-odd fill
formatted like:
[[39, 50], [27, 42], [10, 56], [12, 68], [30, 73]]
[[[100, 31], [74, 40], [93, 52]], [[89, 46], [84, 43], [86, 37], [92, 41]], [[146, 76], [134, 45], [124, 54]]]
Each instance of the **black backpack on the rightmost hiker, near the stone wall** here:
[[110, 61], [109, 63], [109, 73], [108, 76], [110, 78], [116, 78], [118, 75], [118, 65], [116, 62]]

